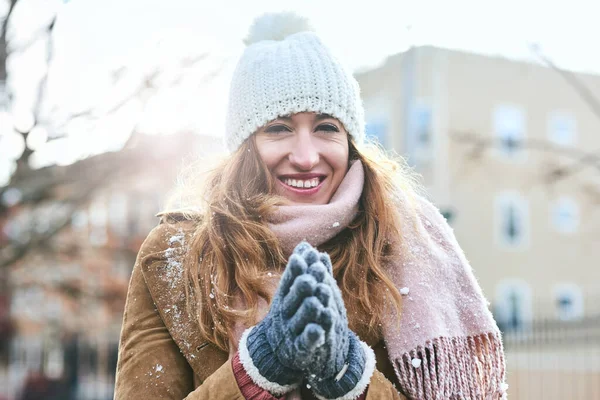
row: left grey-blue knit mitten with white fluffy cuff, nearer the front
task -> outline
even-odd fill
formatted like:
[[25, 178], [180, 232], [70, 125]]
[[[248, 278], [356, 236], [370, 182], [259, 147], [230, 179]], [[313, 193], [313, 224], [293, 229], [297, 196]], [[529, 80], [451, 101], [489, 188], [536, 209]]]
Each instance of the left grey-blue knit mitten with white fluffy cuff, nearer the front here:
[[[309, 265], [318, 253], [308, 243], [296, 247], [283, 272], [267, 316], [244, 332], [240, 361], [252, 380], [274, 395], [284, 394], [303, 379], [313, 353], [331, 326], [318, 296], [328, 291]], [[323, 298], [324, 299], [324, 298]], [[327, 300], [327, 299], [324, 299]]]

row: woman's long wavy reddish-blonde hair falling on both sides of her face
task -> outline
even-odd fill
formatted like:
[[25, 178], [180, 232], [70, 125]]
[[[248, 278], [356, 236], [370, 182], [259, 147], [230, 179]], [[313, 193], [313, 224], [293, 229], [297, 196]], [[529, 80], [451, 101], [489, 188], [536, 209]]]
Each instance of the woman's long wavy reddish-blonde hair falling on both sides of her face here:
[[[391, 241], [402, 240], [394, 199], [399, 190], [412, 193], [417, 185], [401, 159], [388, 156], [373, 143], [359, 151], [350, 136], [348, 140], [350, 161], [360, 160], [365, 172], [359, 213], [319, 250], [331, 257], [348, 315], [368, 316], [350, 318], [350, 328], [379, 333], [388, 307], [400, 313], [402, 304], [386, 271]], [[196, 221], [184, 259], [188, 312], [195, 312], [203, 337], [228, 351], [235, 322], [241, 319], [246, 326], [257, 322], [259, 298], [271, 301], [267, 275], [285, 267], [279, 239], [267, 221], [286, 200], [273, 194], [274, 178], [259, 156], [254, 137], [208, 175], [198, 174], [197, 169], [188, 169], [186, 175], [194, 179], [180, 181], [176, 196], [180, 203], [203, 204], [188, 213]], [[241, 309], [234, 307], [236, 297], [245, 304]]]

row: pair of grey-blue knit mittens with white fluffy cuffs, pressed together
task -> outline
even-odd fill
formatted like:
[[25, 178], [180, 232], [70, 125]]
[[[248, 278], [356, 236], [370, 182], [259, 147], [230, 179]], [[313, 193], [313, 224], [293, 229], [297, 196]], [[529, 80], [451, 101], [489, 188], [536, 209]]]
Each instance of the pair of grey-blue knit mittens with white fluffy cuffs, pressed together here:
[[329, 256], [306, 242], [294, 249], [265, 319], [240, 340], [247, 373], [274, 395], [306, 378], [318, 397], [358, 397], [374, 369], [372, 353], [348, 329]]

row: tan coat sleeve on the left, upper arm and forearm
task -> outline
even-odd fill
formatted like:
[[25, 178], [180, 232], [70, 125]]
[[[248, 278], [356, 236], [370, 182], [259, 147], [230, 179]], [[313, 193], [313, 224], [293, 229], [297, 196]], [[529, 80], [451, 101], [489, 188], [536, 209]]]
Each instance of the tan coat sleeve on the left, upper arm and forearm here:
[[193, 369], [169, 332], [149, 290], [144, 268], [148, 263], [164, 261], [168, 249], [165, 237], [176, 231], [173, 225], [161, 223], [150, 232], [138, 253], [125, 303], [114, 398], [243, 400], [229, 362], [223, 363], [194, 390]]

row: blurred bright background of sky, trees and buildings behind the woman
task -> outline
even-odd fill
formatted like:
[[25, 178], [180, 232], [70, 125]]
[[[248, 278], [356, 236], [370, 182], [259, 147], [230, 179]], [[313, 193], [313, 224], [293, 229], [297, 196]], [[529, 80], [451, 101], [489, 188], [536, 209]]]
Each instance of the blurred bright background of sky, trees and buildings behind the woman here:
[[[600, 399], [592, 2], [0, 0], [0, 399], [111, 399], [127, 285], [186, 160], [223, 151], [252, 19], [356, 73], [504, 333], [511, 399]], [[218, 4], [217, 4], [218, 3]]]

